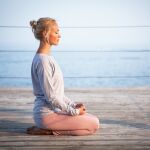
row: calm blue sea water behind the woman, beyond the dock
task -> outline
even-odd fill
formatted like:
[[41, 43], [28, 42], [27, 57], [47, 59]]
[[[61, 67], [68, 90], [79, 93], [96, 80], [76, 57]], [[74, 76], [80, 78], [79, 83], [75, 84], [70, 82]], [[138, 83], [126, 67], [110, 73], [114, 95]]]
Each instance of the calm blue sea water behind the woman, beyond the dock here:
[[[33, 56], [34, 52], [0, 53], [0, 87], [31, 87]], [[150, 85], [150, 52], [53, 52], [53, 56], [65, 87]]]

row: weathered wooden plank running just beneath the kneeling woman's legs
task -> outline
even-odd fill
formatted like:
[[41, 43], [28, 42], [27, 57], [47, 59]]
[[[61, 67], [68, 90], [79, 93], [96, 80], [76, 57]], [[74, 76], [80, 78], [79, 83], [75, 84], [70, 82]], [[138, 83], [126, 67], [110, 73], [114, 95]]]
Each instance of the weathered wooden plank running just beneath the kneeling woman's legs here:
[[94, 134], [91, 136], [79, 136], [79, 137], [73, 137], [72, 136], [61, 136], [61, 137], [55, 137], [52, 135], [47, 135], [47, 136], [37, 136], [37, 135], [14, 135], [14, 136], [1, 136], [0, 137], [0, 142], [19, 142], [19, 141], [64, 141], [64, 140], [69, 140], [69, 141], [104, 141], [104, 140], [150, 140], [149, 136], [144, 136], [144, 135], [135, 135], [134, 134]]

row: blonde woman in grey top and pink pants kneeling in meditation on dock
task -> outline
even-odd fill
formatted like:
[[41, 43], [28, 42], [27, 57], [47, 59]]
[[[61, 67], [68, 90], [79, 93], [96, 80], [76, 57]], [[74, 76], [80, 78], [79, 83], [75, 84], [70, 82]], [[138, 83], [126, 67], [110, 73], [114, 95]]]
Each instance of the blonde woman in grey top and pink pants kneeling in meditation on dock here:
[[31, 21], [30, 25], [39, 48], [33, 58], [31, 76], [36, 127], [29, 134], [89, 135], [99, 128], [97, 117], [87, 114], [82, 103], [76, 104], [64, 94], [63, 75], [51, 55], [52, 45], [60, 39], [58, 24], [51, 18]]

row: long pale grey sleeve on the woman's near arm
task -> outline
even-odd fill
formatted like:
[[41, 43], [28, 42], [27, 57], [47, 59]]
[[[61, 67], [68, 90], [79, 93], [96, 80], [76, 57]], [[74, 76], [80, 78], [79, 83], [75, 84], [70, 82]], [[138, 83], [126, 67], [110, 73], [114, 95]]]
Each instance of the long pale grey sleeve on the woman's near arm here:
[[57, 94], [54, 90], [53, 70], [53, 66], [51, 66], [49, 62], [39, 63], [37, 68], [40, 86], [46, 101], [53, 107], [53, 110], [59, 108], [62, 112], [66, 112], [68, 115], [79, 115], [79, 110], [65, 103], [63, 97]]

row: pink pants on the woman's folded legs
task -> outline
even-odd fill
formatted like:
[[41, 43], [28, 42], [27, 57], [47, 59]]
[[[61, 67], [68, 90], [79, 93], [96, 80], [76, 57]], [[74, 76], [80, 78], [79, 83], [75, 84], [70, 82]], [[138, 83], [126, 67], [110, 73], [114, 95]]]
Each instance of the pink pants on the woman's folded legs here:
[[99, 119], [88, 113], [79, 116], [53, 113], [42, 118], [42, 125], [54, 135], [89, 135], [99, 128]]

